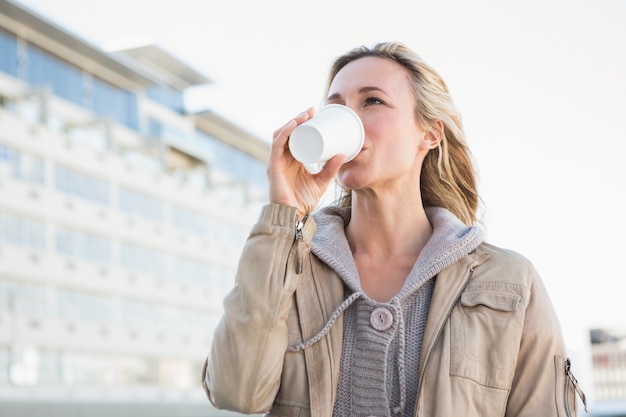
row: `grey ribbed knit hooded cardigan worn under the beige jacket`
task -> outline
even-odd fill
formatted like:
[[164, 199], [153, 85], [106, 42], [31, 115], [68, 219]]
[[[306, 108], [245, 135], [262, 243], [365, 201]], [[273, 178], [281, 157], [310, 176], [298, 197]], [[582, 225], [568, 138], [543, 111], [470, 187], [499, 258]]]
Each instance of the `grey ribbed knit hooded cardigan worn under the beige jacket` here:
[[[346, 300], [316, 340], [305, 341], [291, 350], [315, 343], [343, 311], [343, 351], [334, 417], [413, 415], [433, 278], [484, 239], [481, 227], [467, 227], [445, 209], [430, 208], [426, 214], [433, 225], [433, 236], [400, 293], [388, 303], [371, 300], [361, 289], [344, 230], [350, 221], [350, 209], [327, 207], [314, 214], [317, 233], [311, 251], [344, 281]], [[391, 327], [383, 331], [370, 323], [372, 311], [381, 306], [393, 315]]]

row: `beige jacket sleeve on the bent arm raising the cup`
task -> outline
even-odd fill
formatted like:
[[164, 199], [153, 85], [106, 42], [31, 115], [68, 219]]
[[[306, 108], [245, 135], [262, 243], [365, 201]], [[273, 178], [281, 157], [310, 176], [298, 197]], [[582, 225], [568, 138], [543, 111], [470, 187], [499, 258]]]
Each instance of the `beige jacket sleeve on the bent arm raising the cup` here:
[[[245, 414], [270, 409], [287, 350], [287, 313], [297, 285], [295, 208], [267, 205], [244, 246], [203, 369], [211, 403]], [[315, 223], [306, 222], [307, 249]], [[302, 248], [299, 248], [302, 249]]]

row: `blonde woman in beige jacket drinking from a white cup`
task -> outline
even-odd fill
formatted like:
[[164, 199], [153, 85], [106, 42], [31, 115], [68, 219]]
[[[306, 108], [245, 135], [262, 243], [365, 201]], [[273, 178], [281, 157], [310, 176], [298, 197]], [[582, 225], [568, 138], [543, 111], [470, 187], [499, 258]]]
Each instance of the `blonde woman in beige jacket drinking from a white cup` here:
[[[218, 408], [270, 416], [566, 416], [575, 379], [529, 261], [484, 242], [460, 117], [400, 43], [334, 63], [327, 102], [359, 155], [311, 174], [274, 134], [252, 229], [203, 371]], [[337, 206], [313, 213], [337, 178]]]

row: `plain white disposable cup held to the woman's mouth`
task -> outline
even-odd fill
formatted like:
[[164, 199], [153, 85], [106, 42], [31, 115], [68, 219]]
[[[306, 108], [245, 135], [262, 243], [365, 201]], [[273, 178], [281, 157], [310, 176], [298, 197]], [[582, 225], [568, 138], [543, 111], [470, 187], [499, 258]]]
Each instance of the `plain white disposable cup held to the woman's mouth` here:
[[365, 138], [359, 116], [349, 107], [328, 104], [296, 127], [289, 137], [289, 151], [303, 164], [324, 163], [335, 155], [354, 159]]

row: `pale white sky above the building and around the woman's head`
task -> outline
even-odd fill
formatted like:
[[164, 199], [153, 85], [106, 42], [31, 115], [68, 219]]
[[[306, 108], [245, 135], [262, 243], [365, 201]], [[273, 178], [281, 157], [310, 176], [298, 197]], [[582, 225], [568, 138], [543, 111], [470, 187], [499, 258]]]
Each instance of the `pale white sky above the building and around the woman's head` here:
[[268, 141], [337, 55], [405, 42], [463, 115], [489, 240], [534, 262], [570, 346], [626, 329], [626, 1], [21, 3], [97, 46], [151, 38], [215, 81], [190, 104]]

